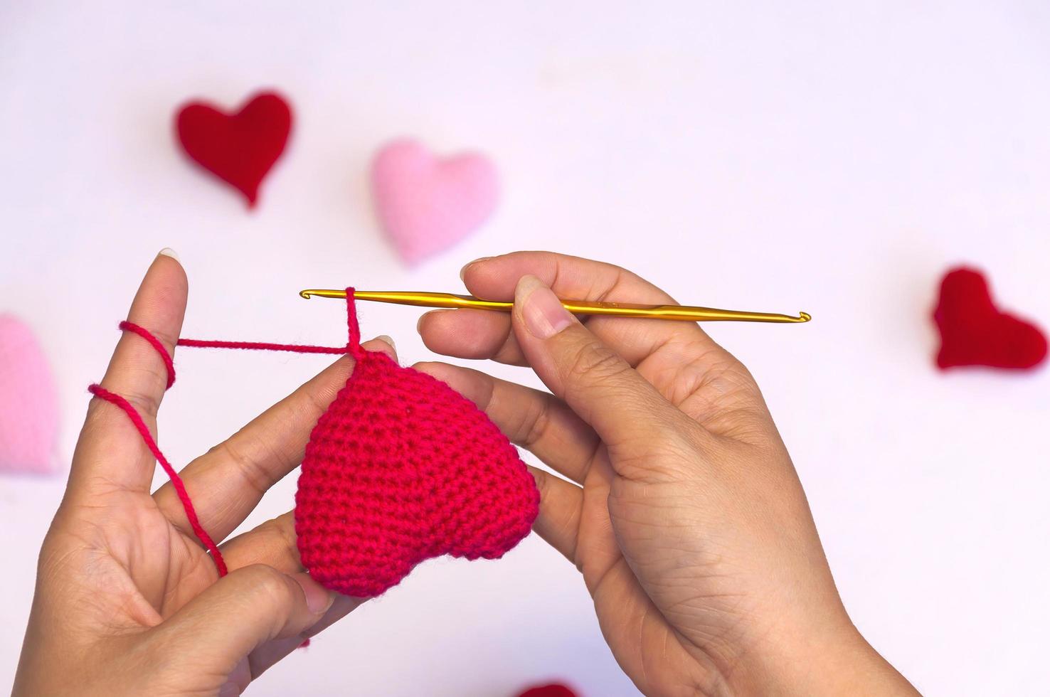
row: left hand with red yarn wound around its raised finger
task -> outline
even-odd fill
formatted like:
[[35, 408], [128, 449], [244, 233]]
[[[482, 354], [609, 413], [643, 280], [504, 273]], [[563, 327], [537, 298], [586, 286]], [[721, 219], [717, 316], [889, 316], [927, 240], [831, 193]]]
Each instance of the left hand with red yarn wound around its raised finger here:
[[[158, 256], [128, 319], [171, 352], [187, 282]], [[382, 341], [363, 344], [393, 348]], [[302, 385], [182, 478], [204, 528], [229, 535], [302, 460], [310, 431], [353, 371], [350, 357]], [[125, 333], [102, 386], [155, 432], [167, 372]], [[154, 462], [119, 407], [91, 400], [69, 483], [40, 551], [15, 695], [233, 695], [360, 599], [330, 593], [299, 564], [288, 512], [222, 545], [219, 579], [170, 484], [150, 494]]]

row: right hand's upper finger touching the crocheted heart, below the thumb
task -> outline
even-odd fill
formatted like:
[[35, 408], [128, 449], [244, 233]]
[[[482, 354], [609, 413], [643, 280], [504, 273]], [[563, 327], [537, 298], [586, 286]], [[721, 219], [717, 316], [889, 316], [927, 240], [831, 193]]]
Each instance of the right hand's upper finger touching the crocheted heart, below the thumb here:
[[572, 409], [550, 393], [499, 380], [447, 363], [418, 363], [477, 404], [514, 444], [573, 482], [583, 482], [601, 441]]

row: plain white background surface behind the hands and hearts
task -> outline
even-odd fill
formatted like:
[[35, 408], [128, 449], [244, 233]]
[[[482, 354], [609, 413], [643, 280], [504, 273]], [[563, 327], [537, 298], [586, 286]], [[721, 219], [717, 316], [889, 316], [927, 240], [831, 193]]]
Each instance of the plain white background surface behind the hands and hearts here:
[[[929, 320], [967, 261], [1050, 324], [1046, 3], [294, 4], [0, 4], [0, 311], [54, 364], [64, 461], [163, 247], [190, 276], [185, 335], [314, 343], [341, 340], [341, 307], [300, 288], [456, 290], [481, 255], [598, 257], [681, 301], [813, 313], [710, 331], [762, 385], [857, 625], [930, 694], [1046, 692], [1050, 372], [939, 374]], [[249, 214], [171, 121], [259, 87], [296, 123]], [[398, 135], [487, 151], [505, 189], [416, 271], [365, 178]], [[416, 310], [361, 314], [404, 361], [430, 357]], [[181, 352], [162, 447], [187, 462], [326, 360]], [[63, 486], [0, 479], [0, 685]], [[633, 694], [575, 570], [532, 536], [424, 565], [250, 692], [487, 697], [547, 677]]]

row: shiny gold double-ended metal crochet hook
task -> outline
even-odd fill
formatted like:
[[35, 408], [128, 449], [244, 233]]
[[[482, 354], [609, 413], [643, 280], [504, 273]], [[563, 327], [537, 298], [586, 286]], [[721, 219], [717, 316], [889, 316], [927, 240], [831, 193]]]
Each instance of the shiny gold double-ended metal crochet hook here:
[[[308, 300], [313, 296], [320, 298], [345, 298], [346, 291], [307, 290], [299, 291], [299, 296]], [[510, 312], [513, 302], [499, 300], [482, 300], [472, 295], [455, 295], [453, 293], [426, 293], [405, 291], [354, 291], [358, 300], [375, 300], [377, 302], [394, 302], [397, 304], [417, 305], [420, 308], [474, 308], [476, 310], [495, 310]], [[718, 310], [716, 308], [697, 308], [691, 305], [650, 305], [632, 302], [594, 302], [589, 300], [562, 300], [562, 305], [574, 315], [605, 315], [609, 317], [650, 317], [653, 319], [680, 319], [687, 322], [807, 322], [812, 317], [804, 312], [798, 317], [779, 315], [766, 312], [742, 312], [739, 310]]]

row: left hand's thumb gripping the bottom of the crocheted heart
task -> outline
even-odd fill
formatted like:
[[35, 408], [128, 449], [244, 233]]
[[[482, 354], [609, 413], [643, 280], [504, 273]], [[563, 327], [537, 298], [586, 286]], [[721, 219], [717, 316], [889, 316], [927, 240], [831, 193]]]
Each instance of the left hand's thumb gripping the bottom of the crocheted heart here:
[[150, 630], [150, 642], [167, 654], [165, 662], [225, 681], [257, 647], [312, 627], [334, 599], [307, 573], [256, 564], [230, 572], [187, 603]]

